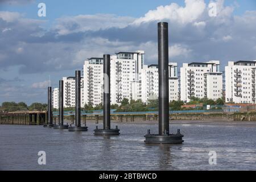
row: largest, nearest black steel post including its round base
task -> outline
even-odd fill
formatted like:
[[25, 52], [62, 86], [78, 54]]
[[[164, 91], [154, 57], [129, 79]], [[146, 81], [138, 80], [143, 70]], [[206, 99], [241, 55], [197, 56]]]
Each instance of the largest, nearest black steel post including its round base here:
[[169, 71], [168, 71], [168, 23], [158, 23], [158, 75], [159, 75], [159, 134], [144, 137], [145, 143], [183, 143], [180, 130], [177, 134], [169, 134]]

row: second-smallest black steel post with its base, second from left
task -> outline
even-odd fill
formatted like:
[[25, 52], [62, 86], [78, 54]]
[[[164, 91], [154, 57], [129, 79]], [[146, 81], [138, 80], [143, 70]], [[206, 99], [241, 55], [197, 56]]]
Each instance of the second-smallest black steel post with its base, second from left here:
[[63, 80], [59, 81], [59, 125], [55, 125], [53, 129], [68, 129], [68, 125], [64, 125], [63, 112]]

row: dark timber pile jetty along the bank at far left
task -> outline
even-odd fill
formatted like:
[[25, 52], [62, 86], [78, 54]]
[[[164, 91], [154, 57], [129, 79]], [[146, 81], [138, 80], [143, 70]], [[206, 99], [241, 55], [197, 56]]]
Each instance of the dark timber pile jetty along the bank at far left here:
[[2, 113], [0, 125], [42, 125], [47, 121], [46, 113]]

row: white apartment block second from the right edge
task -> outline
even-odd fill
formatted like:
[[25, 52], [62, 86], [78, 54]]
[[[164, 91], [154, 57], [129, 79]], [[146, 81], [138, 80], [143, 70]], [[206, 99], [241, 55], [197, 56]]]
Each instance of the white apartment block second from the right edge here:
[[213, 100], [222, 97], [220, 61], [183, 63], [180, 68], [180, 99], [189, 102], [191, 97]]

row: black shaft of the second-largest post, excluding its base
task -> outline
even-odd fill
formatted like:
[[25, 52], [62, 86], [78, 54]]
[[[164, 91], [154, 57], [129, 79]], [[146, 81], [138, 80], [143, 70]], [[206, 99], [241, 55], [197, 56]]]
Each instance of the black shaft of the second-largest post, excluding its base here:
[[104, 113], [103, 113], [103, 129], [110, 129], [110, 55], [103, 57], [103, 73], [104, 73]]

